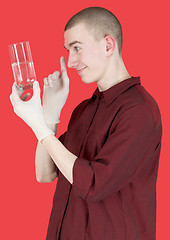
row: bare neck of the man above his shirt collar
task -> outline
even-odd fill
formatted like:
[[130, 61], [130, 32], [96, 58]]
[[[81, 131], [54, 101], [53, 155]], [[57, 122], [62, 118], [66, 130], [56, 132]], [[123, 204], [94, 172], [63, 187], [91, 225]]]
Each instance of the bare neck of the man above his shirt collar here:
[[122, 58], [114, 59], [107, 63], [104, 77], [97, 82], [98, 89], [100, 92], [105, 91], [130, 77]]

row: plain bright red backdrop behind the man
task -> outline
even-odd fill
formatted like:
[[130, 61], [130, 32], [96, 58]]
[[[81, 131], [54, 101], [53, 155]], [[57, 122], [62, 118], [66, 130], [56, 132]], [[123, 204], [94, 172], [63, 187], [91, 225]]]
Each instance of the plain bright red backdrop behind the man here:
[[[37, 140], [32, 130], [13, 112], [9, 101], [13, 74], [8, 44], [30, 41], [37, 79], [58, 70], [67, 53], [63, 29], [69, 18], [83, 8], [101, 6], [112, 11], [123, 28], [123, 59], [132, 76], [157, 101], [163, 121], [162, 151], [157, 182], [157, 240], [170, 239], [169, 113], [169, 5], [168, 0], [4, 1], [0, 6], [1, 44], [1, 164], [0, 239], [45, 239], [56, 182], [40, 184], [35, 178]], [[100, 67], [100, 66], [99, 66]], [[70, 94], [62, 111], [59, 136], [67, 129], [73, 109], [89, 98], [95, 84], [81, 82], [68, 69]], [[77, 213], [78, 214], [78, 213]]]

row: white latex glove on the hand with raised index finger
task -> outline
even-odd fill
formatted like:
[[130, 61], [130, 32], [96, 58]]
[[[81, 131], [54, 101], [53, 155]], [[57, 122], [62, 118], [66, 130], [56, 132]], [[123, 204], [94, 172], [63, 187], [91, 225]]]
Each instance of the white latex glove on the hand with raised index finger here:
[[69, 93], [69, 78], [67, 76], [65, 58], [60, 58], [59, 71], [44, 78], [43, 113], [47, 123], [59, 123], [60, 113]]

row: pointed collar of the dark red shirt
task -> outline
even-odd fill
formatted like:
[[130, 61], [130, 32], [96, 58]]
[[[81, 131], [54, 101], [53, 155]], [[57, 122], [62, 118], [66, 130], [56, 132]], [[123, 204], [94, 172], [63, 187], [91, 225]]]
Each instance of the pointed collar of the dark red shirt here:
[[104, 98], [106, 107], [108, 107], [121, 93], [136, 84], [141, 84], [140, 77], [130, 77], [102, 92], [97, 87], [91, 99], [96, 97], [99, 99]]

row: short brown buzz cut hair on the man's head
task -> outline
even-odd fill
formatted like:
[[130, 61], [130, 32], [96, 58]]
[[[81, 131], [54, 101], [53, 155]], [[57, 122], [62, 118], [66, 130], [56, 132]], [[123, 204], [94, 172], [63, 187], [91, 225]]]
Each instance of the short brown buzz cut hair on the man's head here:
[[109, 10], [102, 7], [88, 7], [76, 13], [67, 22], [64, 31], [76, 26], [85, 24], [96, 41], [106, 36], [112, 36], [118, 47], [119, 54], [122, 53], [122, 27], [117, 17]]

